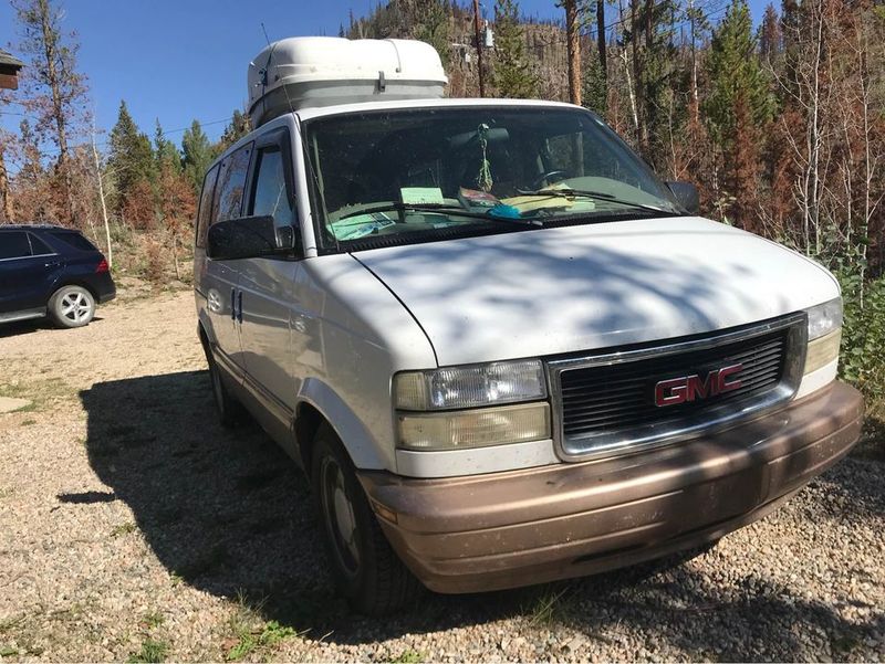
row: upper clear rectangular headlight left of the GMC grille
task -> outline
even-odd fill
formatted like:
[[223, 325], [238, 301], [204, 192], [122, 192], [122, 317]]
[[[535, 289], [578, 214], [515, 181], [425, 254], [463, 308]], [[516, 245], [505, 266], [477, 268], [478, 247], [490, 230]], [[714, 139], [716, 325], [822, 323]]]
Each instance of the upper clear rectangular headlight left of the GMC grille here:
[[394, 378], [394, 402], [403, 410], [477, 408], [544, 398], [541, 360], [407, 371]]

